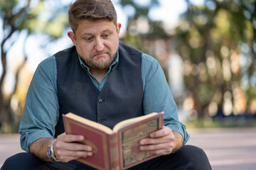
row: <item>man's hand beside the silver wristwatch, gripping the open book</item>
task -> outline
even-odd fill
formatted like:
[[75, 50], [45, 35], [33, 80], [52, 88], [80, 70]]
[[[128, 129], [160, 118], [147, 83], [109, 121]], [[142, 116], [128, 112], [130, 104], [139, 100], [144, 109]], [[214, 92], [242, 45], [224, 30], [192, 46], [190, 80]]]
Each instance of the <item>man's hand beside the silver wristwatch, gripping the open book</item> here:
[[79, 142], [85, 140], [82, 135], [66, 135], [65, 132], [58, 135], [53, 148], [54, 154], [60, 162], [69, 162], [79, 157], [92, 156], [92, 147]]

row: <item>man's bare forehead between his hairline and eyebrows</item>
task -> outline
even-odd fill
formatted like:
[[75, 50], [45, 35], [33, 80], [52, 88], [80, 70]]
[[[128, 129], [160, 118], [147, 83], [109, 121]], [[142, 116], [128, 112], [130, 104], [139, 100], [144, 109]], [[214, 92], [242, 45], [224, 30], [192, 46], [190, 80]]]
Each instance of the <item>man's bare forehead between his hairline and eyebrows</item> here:
[[97, 21], [90, 21], [90, 20], [81, 20], [78, 23], [78, 29], [75, 31], [77, 34], [97, 34], [102, 33], [105, 30], [115, 30], [116, 26], [111, 21], [106, 20], [97, 20]]

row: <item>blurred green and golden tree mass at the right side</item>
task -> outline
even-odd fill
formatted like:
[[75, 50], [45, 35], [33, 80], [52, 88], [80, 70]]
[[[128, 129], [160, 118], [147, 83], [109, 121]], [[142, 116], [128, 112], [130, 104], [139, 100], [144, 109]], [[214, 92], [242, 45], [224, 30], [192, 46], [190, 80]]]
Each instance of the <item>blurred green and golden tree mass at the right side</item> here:
[[256, 1], [186, 2], [176, 50], [193, 109], [200, 118], [247, 113], [256, 98]]

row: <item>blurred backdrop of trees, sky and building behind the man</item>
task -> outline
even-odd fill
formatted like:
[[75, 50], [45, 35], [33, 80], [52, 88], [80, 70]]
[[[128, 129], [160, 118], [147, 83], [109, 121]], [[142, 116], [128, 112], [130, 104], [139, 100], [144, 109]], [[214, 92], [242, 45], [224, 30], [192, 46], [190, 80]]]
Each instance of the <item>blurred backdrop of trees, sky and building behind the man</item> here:
[[[18, 132], [37, 65], [72, 45], [71, 0], [0, 0], [0, 133]], [[184, 124], [256, 127], [255, 0], [112, 0], [120, 40], [161, 64]]]

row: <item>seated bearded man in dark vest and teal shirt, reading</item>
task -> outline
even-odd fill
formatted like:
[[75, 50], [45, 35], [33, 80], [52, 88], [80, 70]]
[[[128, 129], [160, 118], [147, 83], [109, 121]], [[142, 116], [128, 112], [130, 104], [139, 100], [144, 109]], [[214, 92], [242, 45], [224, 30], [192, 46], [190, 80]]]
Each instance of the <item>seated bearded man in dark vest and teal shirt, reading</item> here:
[[[210, 169], [178, 122], [176, 104], [153, 57], [119, 43], [110, 0], [78, 0], [68, 11], [73, 47], [39, 64], [28, 89], [19, 132], [28, 153], [6, 160], [2, 169], [92, 169], [78, 157], [92, 156], [80, 135], [66, 135], [62, 114], [72, 112], [112, 128], [127, 118], [164, 111], [164, 128], [140, 141], [161, 155], [132, 169]], [[14, 163], [15, 164], [12, 164]]]

